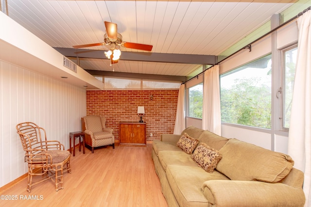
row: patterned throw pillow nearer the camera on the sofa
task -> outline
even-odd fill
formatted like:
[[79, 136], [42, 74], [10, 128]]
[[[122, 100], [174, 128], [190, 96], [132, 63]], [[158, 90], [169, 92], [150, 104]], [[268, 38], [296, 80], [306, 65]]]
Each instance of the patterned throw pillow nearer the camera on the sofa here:
[[222, 159], [222, 154], [216, 149], [209, 147], [206, 143], [201, 143], [194, 150], [191, 158], [207, 173], [212, 173], [217, 163]]

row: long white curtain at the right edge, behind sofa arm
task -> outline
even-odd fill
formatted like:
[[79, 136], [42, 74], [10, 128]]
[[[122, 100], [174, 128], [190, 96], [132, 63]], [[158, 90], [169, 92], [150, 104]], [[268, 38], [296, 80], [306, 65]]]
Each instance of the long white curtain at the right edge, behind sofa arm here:
[[311, 11], [297, 19], [298, 53], [288, 140], [294, 167], [305, 175], [305, 207], [311, 207]]

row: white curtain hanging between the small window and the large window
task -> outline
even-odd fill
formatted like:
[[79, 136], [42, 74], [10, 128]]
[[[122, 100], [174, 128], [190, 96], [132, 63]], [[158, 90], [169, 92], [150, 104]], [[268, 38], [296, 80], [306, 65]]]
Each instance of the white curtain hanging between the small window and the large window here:
[[202, 129], [221, 136], [219, 65], [204, 72]]

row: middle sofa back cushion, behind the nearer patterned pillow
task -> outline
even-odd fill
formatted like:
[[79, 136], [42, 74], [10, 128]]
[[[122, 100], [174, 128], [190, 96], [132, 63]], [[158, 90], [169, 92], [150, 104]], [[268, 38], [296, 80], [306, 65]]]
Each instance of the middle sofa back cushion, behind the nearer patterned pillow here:
[[225, 143], [228, 142], [228, 140], [229, 139], [225, 137], [218, 136], [217, 134], [207, 130], [204, 131], [199, 137], [200, 143], [206, 143], [208, 146], [216, 150], [220, 150], [225, 145]]

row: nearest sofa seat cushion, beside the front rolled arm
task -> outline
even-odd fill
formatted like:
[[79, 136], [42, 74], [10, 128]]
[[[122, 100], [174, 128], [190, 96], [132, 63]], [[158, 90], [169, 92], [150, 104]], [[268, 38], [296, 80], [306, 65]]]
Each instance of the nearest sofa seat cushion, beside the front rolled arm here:
[[207, 207], [202, 185], [207, 180], [229, 180], [225, 175], [214, 171], [207, 173], [198, 166], [168, 165], [167, 179], [181, 207]]

